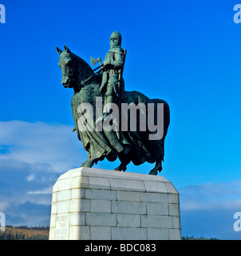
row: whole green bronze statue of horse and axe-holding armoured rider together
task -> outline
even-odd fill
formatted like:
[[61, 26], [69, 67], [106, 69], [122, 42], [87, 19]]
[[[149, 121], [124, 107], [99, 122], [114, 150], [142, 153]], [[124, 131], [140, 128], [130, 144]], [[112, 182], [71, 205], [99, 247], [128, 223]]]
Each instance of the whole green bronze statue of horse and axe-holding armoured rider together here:
[[[87, 62], [73, 54], [67, 46], [65, 46], [65, 51], [57, 47], [57, 52], [60, 54], [58, 64], [62, 70], [61, 83], [65, 88], [73, 88], [71, 106], [75, 123], [74, 130], [88, 154], [88, 159], [81, 166], [91, 167], [104, 158], [109, 161], [119, 158], [121, 165], [115, 170], [126, 170], [126, 166], [131, 161], [135, 165], [156, 162], [156, 166], [149, 174], [156, 175], [158, 171], [162, 170], [164, 139], [170, 122], [169, 106], [164, 100], [150, 99], [137, 91], [124, 91], [122, 76], [126, 50], [121, 48], [121, 34], [115, 31], [111, 35], [110, 50], [106, 54], [103, 64], [101, 58], [91, 58], [93, 65], [100, 62], [100, 66], [95, 69], [99, 69], [96, 74]], [[128, 106], [131, 106], [131, 103], [133, 106], [143, 106], [147, 112], [148, 104], [152, 103], [155, 113], [157, 104], [162, 103], [164, 106], [162, 138], [149, 139], [149, 134], [155, 134], [155, 131], [148, 129], [148, 118], [144, 119], [141, 114], [135, 115], [134, 122], [137, 124], [137, 129], [131, 130], [129, 127], [132, 126], [132, 116], [130, 120], [124, 119], [121, 112], [123, 103], [127, 103]], [[113, 104], [119, 107], [118, 112], [115, 112], [116, 115], [112, 112]], [[86, 106], [92, 106], [93, 113], [89, 113], [89, 108]], [[99, 113], [100, 109], [101, 113]], [[148, 113], [146, 115], [148, 116]], [[88, 120], [90, 119], [93, 121], [91, 126], [93, 129], [88, 129]], [[85, 130], [81, 129], [80, 120], [84, 120], [82, 124], [85, 124]], [[100, 125], [102, 127], [105, 120], [108, 120], [115, 129], [100, 129]], [[126, 130], [122, 129], [124, 120], [127, 120], [128, 129]], [[156, 116], [154, 120], [156, 123]], [[141, 122], [142, 124], [145, 122], [147, 130], [141, 130]]]

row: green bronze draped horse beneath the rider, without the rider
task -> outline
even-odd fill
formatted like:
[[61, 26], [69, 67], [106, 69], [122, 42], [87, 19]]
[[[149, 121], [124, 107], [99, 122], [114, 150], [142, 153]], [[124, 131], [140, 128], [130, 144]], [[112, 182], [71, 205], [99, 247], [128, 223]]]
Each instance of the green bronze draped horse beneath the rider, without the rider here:
[[[168, 103], [161, 99], [150, 99], [137, 91], [125, 91], [122, 102], [130, 104], [162, 103], [164, 108], [163, 136], [158, 140], [149, 140], [148, 134], [155, 134], [151, 130], [147, 131], [120, 131], [117, 132], [98, 130], [96, 104], [97, 98], [105, 98], [105, 94], [100, 92], [101, 75], [95, 75], [92, 68], [82, 58], [73, 54], [67, 46], [65, 51], [57, 47], [60, 54], [58, 65], [61, 67], [61, 83], [65, 88], [73, 88], [73, 97], [71, 100], [73, 120], [77, 132], [77, 137], [81, 141], [84, 150], [87, 151], [88, 158], [81, 166], [92, 167], [94, 163], [107, 158], [109, 161], [120, 159], [121, 165], [115, 170], [126, 170], [129, 162], [138, 166], [144, 162], [156, 162], [156, 166], [149, 174], [156, 175], [162, 170], [162, 161], [164, 161], [164, 139], [168, 132], [170, 122], [170, 110]], [[104, 101], [103, 101], [104, 102]], [[79, 120], [83, 118], [83, 113], [79, 106], [83, 103], [93, 106], [93, 129], [81, 130]], [[104, 103], [103, 103], [104, 104]], [[103, 106], [104, 108], [104, 106]], [[140, 125], [140, 116], [136, 117], [137, 126]], [[124, 149], [124, 150], [122, 150]]]

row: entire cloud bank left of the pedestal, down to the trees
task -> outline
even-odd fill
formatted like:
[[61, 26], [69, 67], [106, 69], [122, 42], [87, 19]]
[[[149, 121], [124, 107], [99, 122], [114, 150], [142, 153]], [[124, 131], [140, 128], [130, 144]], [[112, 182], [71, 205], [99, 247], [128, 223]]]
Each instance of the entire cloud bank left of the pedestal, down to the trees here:
[[[0, 122], [0, 211], [7, 225], [49, 225], [54, 183], [86, 158], [72, 129], [44, 122]], [[39, 216], [32, 218], [38, 215], [36, 209]]]

